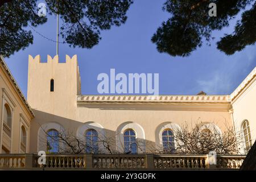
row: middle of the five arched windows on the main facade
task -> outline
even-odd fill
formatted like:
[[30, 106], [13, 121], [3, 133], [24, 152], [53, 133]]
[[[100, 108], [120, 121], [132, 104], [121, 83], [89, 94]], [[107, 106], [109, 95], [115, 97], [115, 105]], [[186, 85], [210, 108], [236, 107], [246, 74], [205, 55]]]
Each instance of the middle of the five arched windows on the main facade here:
[[137, 142], [135, 131], [128, 129], [123, 134], [124, 144], [125, 144], [125, 153], [126, 154], [136, 154], [137, 153]]

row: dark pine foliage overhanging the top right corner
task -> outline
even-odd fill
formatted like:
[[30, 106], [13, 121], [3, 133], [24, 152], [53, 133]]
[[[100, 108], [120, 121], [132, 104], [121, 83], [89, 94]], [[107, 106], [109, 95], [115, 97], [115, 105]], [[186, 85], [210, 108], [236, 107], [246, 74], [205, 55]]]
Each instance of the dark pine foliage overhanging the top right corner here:
[[[210, 10], [208, 6], [212, 2], [217, 5], [216, 17], [208, 15]], [[156, 44], [159, 52], [166, 52], [171, 56], [189, 56], [202, 45], [203, 38], [209, 42], [213, 30], [221, 30], [229, 26], [230, 19], [252, 3], [255, 3], [255, 0], [167, 0], [163, 10], [172, 17], [162, 23], [151, 40]], [[218, 42], [218, 49], [229, 55], [256, 41], [254, 9], [243, 13], [235, 35], [222, 38]], [[238, 39], [241, 39], [239, 43]]]

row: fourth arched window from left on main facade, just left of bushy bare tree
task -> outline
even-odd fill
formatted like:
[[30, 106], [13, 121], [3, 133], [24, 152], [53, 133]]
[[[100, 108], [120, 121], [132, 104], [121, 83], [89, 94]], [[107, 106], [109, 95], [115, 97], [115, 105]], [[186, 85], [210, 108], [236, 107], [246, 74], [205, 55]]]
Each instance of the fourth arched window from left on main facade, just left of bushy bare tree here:
[[165, 152], [173, 152], [174, 148], [174, 133], [171, 129], [164, 130], [162, 133], [163, 150]]

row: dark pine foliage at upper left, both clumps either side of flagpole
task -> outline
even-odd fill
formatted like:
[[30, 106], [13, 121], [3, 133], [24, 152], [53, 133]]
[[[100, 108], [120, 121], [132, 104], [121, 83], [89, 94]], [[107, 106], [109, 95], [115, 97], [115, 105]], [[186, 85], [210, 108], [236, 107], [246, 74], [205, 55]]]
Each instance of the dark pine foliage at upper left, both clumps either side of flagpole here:
[[[37, 0], [3, 0], [0, 2], [0, 54], [9, 57], [33, 43], [27, 26], [47, 22], [38, 16]], [[100, 41], [100, 31], [126, 22], [132, 0], [46, 0], [49, 14], [63, 20], [60, 35], [73, 47], [92, 48]]]

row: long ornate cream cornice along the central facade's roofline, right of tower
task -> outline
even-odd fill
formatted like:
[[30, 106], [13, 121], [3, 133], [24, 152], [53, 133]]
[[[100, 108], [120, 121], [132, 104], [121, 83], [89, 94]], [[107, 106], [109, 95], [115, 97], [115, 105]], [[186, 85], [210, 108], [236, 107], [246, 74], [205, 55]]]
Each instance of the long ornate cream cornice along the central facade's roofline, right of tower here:
[[229, 96], [77, 96], [77, 107], [114, 110], [228, 111]]

